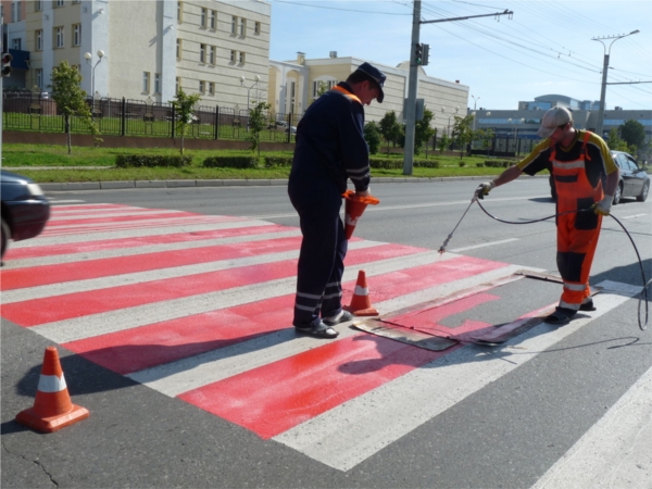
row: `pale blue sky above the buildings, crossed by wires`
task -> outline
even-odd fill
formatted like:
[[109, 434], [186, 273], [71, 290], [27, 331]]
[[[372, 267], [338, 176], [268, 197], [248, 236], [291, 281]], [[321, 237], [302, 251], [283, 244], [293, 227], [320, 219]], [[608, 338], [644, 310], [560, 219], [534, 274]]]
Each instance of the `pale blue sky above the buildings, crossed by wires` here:
[[[268, 0], [269, 58], [292, 61], [360, 58], [397, 66], [412, 49], [413, 1]], [[557, 93], [600, 100], [610, 54], [606, 109], [652, 109], [652, 1], [422, 1], [422, 21], [512, 11], [513, 15], [422, 24], [430, 46], [429, 76], [469, 87], [472, 109], [515, 110], [519, 101]], [[593, 38], [640, 33], [602, 42]], [[473, 97], [472, 97], [473, 96]]]

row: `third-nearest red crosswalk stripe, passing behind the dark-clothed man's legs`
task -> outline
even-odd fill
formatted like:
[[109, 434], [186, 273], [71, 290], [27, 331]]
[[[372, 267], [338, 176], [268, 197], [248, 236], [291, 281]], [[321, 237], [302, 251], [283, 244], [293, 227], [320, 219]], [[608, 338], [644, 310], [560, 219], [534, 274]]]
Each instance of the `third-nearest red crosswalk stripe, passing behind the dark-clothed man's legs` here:
[[[383, 244], [349, 251], [349, 264], [368, 263], [423, 251], [400, 244]], [[25, 268], [28, 269], [28, 268]], [[36, 268], [35, 268], [36, 269]], [[233, 287], [260, 284], [296, 275], [297, 261], [229, 268], [146, 284], [14, 302], [2, 306], [2, 317], [22, 326], [68, 319], [106, 311], [168, 301]]]

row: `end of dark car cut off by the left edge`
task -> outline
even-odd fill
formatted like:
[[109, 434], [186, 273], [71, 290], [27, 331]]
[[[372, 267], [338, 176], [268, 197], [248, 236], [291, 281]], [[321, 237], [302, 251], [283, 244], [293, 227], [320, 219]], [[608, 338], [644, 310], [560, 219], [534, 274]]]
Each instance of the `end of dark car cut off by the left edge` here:
[[2, 170], [2, 256], [9, 240], [38, 236], [50, 217], [50, 202], [32, 179]]

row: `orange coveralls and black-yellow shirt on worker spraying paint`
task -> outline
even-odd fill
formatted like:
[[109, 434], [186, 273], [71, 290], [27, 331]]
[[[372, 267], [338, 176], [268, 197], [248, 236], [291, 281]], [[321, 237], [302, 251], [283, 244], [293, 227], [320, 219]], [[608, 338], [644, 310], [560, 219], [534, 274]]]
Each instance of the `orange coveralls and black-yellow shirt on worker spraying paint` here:
[[[546, 161], [547, 160], [547, 161]], [[546, 162], [544, 162], [546, 161]], [[579, 310], [590, 300], [589, 274], [602, 216], [591, 208], [604, 198], [602, 179], [616, 171], [609, 148], [597, 135], [578, 130], [569, 148], [551, 145], [548, 139], [518, 163], [518, 167], [534, 175], [548, 167], [554, 179], [557, 201], [557, 268], [564, 280], [560, 308]]]

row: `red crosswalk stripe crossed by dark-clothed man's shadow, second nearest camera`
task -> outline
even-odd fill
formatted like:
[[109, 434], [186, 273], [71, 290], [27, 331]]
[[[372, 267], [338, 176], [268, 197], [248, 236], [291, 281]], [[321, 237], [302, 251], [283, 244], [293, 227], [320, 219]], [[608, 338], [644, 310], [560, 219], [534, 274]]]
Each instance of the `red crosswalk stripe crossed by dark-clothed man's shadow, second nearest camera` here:
[[[389, 300], [409, 293], [414, 291], [415, 287], [429, 287], [441, 281], [473, 276], [478, 273], [477, 267], [484, 266], [486, 268], [493, 263], [464, 256], [450, 261], [456, 262], [457, 266], [442, 266], [448, 264], [447, 261], [426, 267], [411, 268], [405, 271], [406, 273], [402, 276], [394, 276], [396, 281], [392, 283], [391, 288], [388, 288], [381, 300]], [[477, 267], [469, 266], [468, 262], [474, 262]], [[454, 269], [461, 269], [462, 272], [452, 275], [451, 271]], [[421, 274], [425, 272], [428, 281], [415, 281], [412, 278], [413, 274], [411, 272], [413, 271]], [[374, 303], [379, 301], [374, 284], [386, 284], [392, 275], [378, 275], [372, 277], [373, 280], [367, 277], [367, 285], [372, 284], [369, 293]], [[344, 290], [353, 290], [354, 287], [355, 280], [343, 284]], [[478, 300], [477, 297], [475, 300]], [[349, 301], [344, 301], [344, 303], [349, 303]], [[464, 302], [464, 304], [471, 306], [474, 303]], [[63, 344], [63, 347], [91, 362], [125, 375], [290, 327], [293, 305], [294, 294], [281, 296], [73, 341]], [[450, 314], [449, 309], [440, 308], [439, 310], [446, 312], [444, 315]], [[427, 321], [435, 322], [439, 318], [436, 315], [428, 316]], [[394, 319], [392, 318], [392, 321]], [[459, 329], [455, 331], [461, 333]]]

